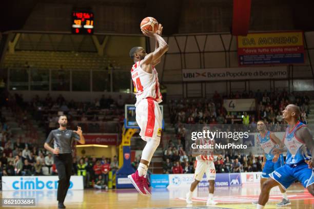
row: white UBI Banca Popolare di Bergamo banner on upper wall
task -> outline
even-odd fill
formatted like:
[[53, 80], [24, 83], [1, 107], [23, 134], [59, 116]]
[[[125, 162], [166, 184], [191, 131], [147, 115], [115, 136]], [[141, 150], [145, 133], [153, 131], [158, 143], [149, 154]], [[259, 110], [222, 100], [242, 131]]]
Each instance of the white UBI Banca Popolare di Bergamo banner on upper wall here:
[[254, 67], [254, 68], [212, 68], [212, 69], [182, 69], [182, 80], [218, 81], [218, 80], [254, 80], [287, 78], [285, 66]]

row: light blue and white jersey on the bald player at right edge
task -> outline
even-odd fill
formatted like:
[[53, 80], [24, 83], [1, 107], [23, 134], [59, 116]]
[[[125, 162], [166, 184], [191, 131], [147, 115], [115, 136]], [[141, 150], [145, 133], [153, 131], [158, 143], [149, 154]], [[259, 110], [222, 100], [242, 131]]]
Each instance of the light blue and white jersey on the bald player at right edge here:
[[304, 160], [309, 160], [311, 158], [311, 153], [304, 141], [296, 137], [296, 131], [301, 127], [305, 127], [305, 124], [298, 121], [295, 127], [289, 131], [289, 126], [285, 133], [284, 143], [288, 149], [286, 164], [298, 164]]

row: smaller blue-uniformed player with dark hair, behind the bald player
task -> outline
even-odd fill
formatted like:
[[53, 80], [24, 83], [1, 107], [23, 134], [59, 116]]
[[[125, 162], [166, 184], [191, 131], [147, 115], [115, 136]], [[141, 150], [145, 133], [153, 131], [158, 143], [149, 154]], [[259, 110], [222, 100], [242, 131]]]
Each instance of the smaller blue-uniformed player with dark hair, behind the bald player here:
[[[272, 151], [274, 149], [283, 149], [284, 143], [272, 132], [266, 129], [266, 125], [263, 120], [257, 122], [257, 130], [259, 135], [257, 136], [257, 142], [260, 144], [264, 151], [264, 159], [262, 164], [262, 176], [261, 176], [261, 190], [263, 183], [269, 178], [269, 174], [274, 170], [280, 168], [284, 165], [283, 154], [273, 155]], [[277, 206], [287, 206], [290, 205], [290, 201], [287, 197], [286, 190], [279, 185], [280, 192], [283, 199]], [[252, 202], [253, 204], [258, 204], [258, 201]]]

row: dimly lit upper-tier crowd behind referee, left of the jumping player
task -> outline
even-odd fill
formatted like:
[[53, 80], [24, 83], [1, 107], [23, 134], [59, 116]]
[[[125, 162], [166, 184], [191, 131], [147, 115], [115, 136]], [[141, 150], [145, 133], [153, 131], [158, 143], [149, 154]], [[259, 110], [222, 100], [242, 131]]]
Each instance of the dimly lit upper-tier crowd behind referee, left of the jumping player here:
[[115, 100], [110, 95], [102, 95], [93, 102], [67, 100], [61, 94], [55, 99], [50, 94], [43, 98], [35, 95], [30, 102], [25, 102], [23, 95], [14, 94], [10, 97], [9, 100], [18, 107], [23, 107], [19, 115], [27, 119], [27, 114], [31, 113], [32, 118], [45, 129], [46, 135], [58, 127], [58, 115], [62, 114], [67, 115], [70, 128], [81, 126], [89, 133], [118, 133], [123, 124], [125, 103], [135, 103], [134, 95], [127, 99], [119, 95]]

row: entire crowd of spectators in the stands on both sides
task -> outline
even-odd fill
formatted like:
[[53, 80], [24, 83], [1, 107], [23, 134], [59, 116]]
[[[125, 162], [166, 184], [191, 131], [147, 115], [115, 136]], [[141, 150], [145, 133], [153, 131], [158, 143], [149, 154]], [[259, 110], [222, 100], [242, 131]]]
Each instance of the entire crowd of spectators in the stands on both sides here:
[[[256, 98], [257, 110], [247, 113], [227, 112], [223, 107], [224, 98]], [[67, 114], [68, 121], [90, 122], [124, 119], [124, 104], [134, 103], [134, 97], [124, 100], [121, 96], [113, 100], [110, 96], [103, 95], [94, 102], [74, 102], [66, 100], [59, 95], [55, 100], [49, 94], [45, 98], [35, 96], [31, 102], [24, 102], [22, 95], [15, 94], [9, 97], [18, 107], [19, 126], [24, 126], [28, 120], [27, 113], [30, 111], [34, 118], [46, 121], [43, 126], [47, 134], [57, 128], [57, 112]], [[187, 124], [232, 124], [240, 123], [250, 130], [256, 130], [256, 121], [264, 120], [271, 131], [282, 131], [284, 126], [281, 115], [282, 110], [289, 103], [295, 103], [301, 109], [301, 121], [306, 123], [309, 114], [309, 98], [306, 95], [289, 94], [283, 92], [239, 92], [229, 96], [215, 92], [212, 98], [206, 99], [180, 99], [169, 100], [168, 107], [170, 120], [175, 128], [176, 138], [169, 141], [164, 150], [163, 173], [193, 173], [195, 158], [185, 152], [185, 127]], [[240, 117], [239, 117], [240, 115]], [[44, 119], [43, 119], [44, 118]], [[240, 119], [239, 119], [240, 118]], [[57, 175], [51, 153], [43, 148], [38, 149], [34, 144], [21, 143], [17, 140], [11, 143], [12, 132], [5, 118], [0, 113], [0, 176], [28, 176], [28, 175]], [[278, 125], [278, 126], [276, 126]], [[139, 161], [139, 160], [138, 160]], [[262, 170], [262, 157], [253, 155], [240, 155], [239, 153], [224, 153], [214, 157], [217, 173], [250, 172]], [[137, 168], [138, 162], [132, 163]], [[108, 185], [108, 172], [115, 172], [118, 168], [116, 157], [112, 160], [82, 157], [73, 158], [73, 173], [84, 177], [84, 186], [93, 186], [99, 189]]]

